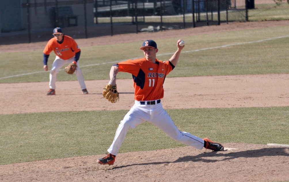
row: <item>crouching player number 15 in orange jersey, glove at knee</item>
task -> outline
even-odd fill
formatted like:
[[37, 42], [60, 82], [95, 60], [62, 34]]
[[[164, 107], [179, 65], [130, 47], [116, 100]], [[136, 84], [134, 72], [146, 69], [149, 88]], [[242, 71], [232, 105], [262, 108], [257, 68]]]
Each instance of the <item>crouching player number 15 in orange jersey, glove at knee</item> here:
[[43, 69], [48, 71], [47, 61], [51, 51], [56, 54], [55, 60], [52, 64], [52, 68], [49, 74], [49, 88], [50, 90], [46, 95], [55, 95], [56, 88], [56, 74], [59, 72], [60, 68], [65, 64], [74, 63], [77, 65], [76, 77], [79, 82], [83, 94], [88, 94], [86, 85], [84, 83], [84, 78], [79, 68], [79, 57], [80, 48], [72, 37], [64, 35], [62, 29], [57, 27], [53, 30], [54, 38], [50, 39], [43, 50]]

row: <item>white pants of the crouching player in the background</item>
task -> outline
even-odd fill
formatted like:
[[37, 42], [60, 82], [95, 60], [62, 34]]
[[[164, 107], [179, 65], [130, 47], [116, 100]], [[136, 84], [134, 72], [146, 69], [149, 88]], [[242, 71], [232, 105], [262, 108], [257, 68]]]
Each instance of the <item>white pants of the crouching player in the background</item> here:
[[[64, 66], [65, 64], [68, 65], [74, 61], [74, 56], [70, 59], [64, 60], [61, 59], [60, 57], [56, 56], [55, 60], [53, 61], [50, 74], [49, 74], [49, 88], [55, 89], [56, 88], [56, 74], [59, 72], [60, 68]], [[79, 64], [77, 62], [77, 67], [75, 70], [76, 78], [79, 82], [79, 85], [82, 89], [86, 89], [86, 85], [84, 83], [84, 78], [81, 72], [81, 69], [79, 68]]]

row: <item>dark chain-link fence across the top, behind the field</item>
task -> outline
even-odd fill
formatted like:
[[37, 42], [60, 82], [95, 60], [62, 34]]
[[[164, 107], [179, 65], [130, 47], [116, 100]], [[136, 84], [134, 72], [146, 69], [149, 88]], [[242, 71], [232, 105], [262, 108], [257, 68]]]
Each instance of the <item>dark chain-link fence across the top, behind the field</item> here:
[[231, 21], [288, 20], [289, 0], [0, 0], [0, 44], [75, 39]]

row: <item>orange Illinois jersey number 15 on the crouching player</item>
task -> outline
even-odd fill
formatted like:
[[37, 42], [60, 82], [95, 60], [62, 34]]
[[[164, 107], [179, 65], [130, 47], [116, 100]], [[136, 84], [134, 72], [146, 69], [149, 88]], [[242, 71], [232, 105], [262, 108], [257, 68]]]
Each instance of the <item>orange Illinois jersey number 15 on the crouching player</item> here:
[[67, 60], [75, 56], [75, 53], [79, 52], [80, 48], [72, 37], [64, 35], [61, 44], [54, 37], [48, 41], [43, 53], [48, 55], [51, 51], [54, 51], [61, 59]]

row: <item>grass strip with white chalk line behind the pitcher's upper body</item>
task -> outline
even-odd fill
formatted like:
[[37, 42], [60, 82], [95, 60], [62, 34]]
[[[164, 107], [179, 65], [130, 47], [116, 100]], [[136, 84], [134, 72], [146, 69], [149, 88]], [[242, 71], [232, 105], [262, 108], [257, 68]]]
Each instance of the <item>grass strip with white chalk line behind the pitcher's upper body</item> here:
[[[288, 32], [289, 26], [283, 26], [182, 37], [186, 41], [186, 48], [177, 69], [168, 77], [288, 73], [288, 61], [285, 61], [288, 60]], [[287, 37], [278, 38], [281, 36]], [[175, 44], [167, 43], [175, 42], [175, 38], [155, 41], [158, 43], [160, 60], [169, 59], [175, 52]], [[85, 73], [84, 79], [108, 79], [112, 64], [143, 56], [142, 52], [136, 49], [139, 44], [137, 41], [81, 48], [80, 61], [81, 69]], [[221, 47], [226, 45], [229, 46]], [[123, 49], [120, 49], [121, 47]], [[51, 54], [49, 57], [49, 68], [53, 56]], [[47, 81], [47, 74], [42, 69], [42, 59], [40, 51], [1, 53], [0, 83]], [[11, 77], [20, 74], [24, 75]], [[76, 80], [64, 72], [58, 75], [58, 81]], [[118, 78], [131, 76], [119, 74]]]

